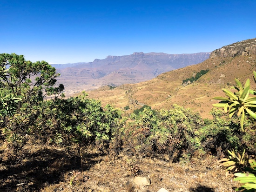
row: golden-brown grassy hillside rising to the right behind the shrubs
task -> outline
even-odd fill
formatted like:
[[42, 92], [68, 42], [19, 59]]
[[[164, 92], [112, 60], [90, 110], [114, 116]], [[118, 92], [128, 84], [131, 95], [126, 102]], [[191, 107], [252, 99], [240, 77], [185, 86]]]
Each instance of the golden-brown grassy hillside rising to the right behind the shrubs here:
[[[256, 47], [255, 40], [250, 40], [251, 47]], [[243, 42], [247, 44], [248, 41]], [[247, 49], [243, 42], [238, 45]], [[221, 49], [223, 53], [228, 53], [230, 46]], [[118, 86], [112, 90], [109, 90], [109, 87], [101, 87], [90, 91], [89, 97], [122, 109], [128, 105], [130, 106], [128, 113], [144, 104], [154, 109], [168, 109], [176, 103], [199, 112], [204, 118], [210, 118], [209, 111], [212, 109], [212, 104], [217, 102], [211, 98], [223, 95], [223, 87], [234, 85], [235, 78], [242, 82], [247, 78], [253, 81], [252, 72], [256, 70], [256, 55], [250, 52], [249, 55], [243, 55], [244, 52], [241, 52], [240, 48], [236, 50], [237, 52], [234, 53], [236, 57], [223, 57], [222, 54], [218, 55], [216, 50], [213, 52], [216, 53], [215, 56], [200, 64], [169, 71], [145, 82]], [[195, 76], [202, 69], [208, 69], [209, 72], [194, 83], [182, 84], [182, 80]]]

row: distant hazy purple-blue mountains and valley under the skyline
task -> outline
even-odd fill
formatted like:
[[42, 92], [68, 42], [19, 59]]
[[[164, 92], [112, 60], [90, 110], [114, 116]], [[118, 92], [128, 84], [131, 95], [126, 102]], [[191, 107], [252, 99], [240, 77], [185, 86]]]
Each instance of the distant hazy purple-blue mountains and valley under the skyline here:
[[61, 73], [58, 83], [65, 85], [67, 96], [82, 90], [92, 90], [105, 85], [120, 86], [155, 78], [161, 73], [201, 63], [210, 53], [167, 54], [133, 53], [108, 56], [88, 63], [52, 65]]

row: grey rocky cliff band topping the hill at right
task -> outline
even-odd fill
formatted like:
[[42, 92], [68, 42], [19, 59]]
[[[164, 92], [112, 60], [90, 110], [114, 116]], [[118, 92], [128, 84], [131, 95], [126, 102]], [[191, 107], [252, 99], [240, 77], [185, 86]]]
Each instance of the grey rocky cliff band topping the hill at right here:
[[235, 57], [237, 55], [252, 55], [256, 54], [256, 38], [243, 40], [233, 43], [228, 46], [222, 46], [210, 54], [210, 58], [218, 57]]

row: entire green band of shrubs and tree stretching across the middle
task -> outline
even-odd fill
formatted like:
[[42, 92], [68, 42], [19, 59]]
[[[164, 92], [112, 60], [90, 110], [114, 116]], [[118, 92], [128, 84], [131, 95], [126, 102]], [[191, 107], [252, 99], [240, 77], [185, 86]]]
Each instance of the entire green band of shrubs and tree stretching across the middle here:
[[252, 119], [245, 119], [240, 129], [236, 115], [226, 119], [213, 109], [212, 120], [202, 119], [178, 105], [161, 111], [144, 105], [127, 119], [121, 110], [110, 105], [103, 108], [86, 92], [64, 99], [64, 86], [54, 87], [59, 74], [45, 61], [32, 63], [20, 55], [0, 54], [0, 64], [1, 139], [16, 146], [26, 142], [26, 135], [34, 135], [49, 144], [76, 143], [78, 154], [83, 146], [138, 156], [166, 154], [175, 160], [208, 152], [221, 157], [230, 148], [256, 151]]

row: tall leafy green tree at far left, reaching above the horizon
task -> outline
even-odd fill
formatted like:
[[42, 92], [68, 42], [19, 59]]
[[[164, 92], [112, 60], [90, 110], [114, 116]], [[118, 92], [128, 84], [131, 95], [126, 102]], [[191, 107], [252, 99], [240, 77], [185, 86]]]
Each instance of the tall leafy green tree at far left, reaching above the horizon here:
[[[38, 106], [46, 96], [54, 94], [57, 97], [63, 92], [63, 85], [53, 87], [59, 75], [45, 61], [27, 61], [23, 55], [15, 53], [0, 54], [0, 91], [7, 94], [1, 94], [1, 99], [9, 98], [8, 109], [12, 107], [14, 111], [15, 106], [17, 113], [1, 117], [1, 126], [4, 127], [2, 132], [8, 139], [24, 135], [28, 126], [36, 123], [36, 116], [40, 113]], [[16, 104], [13, 105], [13, 102]]]

